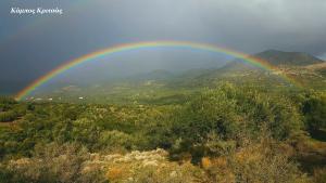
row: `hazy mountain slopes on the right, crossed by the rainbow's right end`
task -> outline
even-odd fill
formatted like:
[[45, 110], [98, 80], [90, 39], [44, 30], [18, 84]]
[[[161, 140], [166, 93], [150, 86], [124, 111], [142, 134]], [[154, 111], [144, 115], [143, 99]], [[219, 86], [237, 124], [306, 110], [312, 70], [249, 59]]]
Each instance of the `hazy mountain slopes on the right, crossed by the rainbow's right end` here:
[[[325, 88], [326, 62], [314, 57], [308, 53], [283, 52], [267, 50], [253, 56], [265, 60], [275, 65], [284, 74], [301, 82], [302, 86], [312, 88]], [[173, 86], [198, 87], [211, 86], [218, 81], [229, 81], [236, 83], [274, 83], [277, 86], [288, 86], [279, 77], [279, 71], [265, 70], [249, 64], [242, 60], [234, 60], [224, 67], [216, 69], [200, 69], [188, 71], [174, 81]]]

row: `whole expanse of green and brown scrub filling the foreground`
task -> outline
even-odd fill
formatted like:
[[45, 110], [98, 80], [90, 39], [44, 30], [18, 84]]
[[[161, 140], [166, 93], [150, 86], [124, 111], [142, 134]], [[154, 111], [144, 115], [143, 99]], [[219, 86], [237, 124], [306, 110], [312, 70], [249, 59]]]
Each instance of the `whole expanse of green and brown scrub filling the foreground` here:
[[2, 97], [0, 181], [326, 181], [325, 92], [223, 83], [181, 102], [155, 101]]

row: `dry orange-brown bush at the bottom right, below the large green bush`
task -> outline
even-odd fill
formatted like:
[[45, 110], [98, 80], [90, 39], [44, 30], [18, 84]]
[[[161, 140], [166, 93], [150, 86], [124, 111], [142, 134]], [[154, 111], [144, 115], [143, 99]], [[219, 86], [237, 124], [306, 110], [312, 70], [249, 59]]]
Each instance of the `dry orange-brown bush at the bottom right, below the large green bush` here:
[[[268, 140], [271, 141], [271, 140]], [[212, 158], [206, 171], [212, 182], [308, 183], [309, 179], [278, 145], [262, 141]]]

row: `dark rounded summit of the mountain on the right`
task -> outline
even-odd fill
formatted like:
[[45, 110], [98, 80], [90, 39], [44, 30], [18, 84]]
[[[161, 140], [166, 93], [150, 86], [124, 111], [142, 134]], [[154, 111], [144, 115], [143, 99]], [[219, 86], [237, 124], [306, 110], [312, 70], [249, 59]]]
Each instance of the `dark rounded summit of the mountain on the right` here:
[[305, 66], [311, 64], [321, 64], [324, 61], [303, 52], [285, 52], [278, 50], [266, 50], [254, 54], [255, 57], [267, 61], [269, 64], [278, 65], [296, 65]]

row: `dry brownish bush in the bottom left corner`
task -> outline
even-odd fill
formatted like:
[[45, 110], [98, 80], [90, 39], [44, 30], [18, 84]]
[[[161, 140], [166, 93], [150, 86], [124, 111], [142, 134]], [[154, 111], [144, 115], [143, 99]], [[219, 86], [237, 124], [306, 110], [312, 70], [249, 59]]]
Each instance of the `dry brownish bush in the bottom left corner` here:
[[83, 172], [87, 149], [76, 144], [39, 144], [33, 158], [11, 160], [2, 177], [8, 182], [90, 182], [99, 180], [95, 172]]

